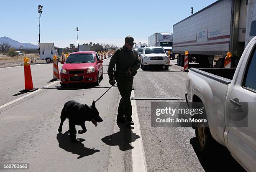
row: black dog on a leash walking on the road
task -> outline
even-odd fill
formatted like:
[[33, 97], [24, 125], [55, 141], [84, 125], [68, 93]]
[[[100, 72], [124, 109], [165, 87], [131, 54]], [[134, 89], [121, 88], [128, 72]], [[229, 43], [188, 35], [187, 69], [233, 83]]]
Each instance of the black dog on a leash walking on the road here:
[[92, 121], [92, 124], [95, 126], [97, 126], [97, 122], [103, 121], [95, 107], [95, 101], [92, 102], [92, 106], [80, 104], [73, 100], [65, 103], [61, 111], [61, 123], [59, 125], [58, 132], [62, 131], [62, 125], [66, 118], [69, 119], [69, 137], [72, 142], [78, 142], [76, 138], [76, 125], [80, 125], [82, 127], [82, 130], [79, 130], [78, 134], [83, 134], [87, 132], [84, 124], [85, 121]]

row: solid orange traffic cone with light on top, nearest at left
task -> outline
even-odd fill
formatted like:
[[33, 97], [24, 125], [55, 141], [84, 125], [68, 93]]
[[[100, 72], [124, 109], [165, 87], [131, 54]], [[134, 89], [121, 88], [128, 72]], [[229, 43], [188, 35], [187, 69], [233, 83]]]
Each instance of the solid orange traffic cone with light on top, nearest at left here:
[[38, 88], [33, 88], [33, 81], [31, 75], [31, 68], [30, 64], [28, 63], [28, 58], [24, 58], [24, 78], [25, 78], [25, 89], [20, 90], [20, 92], [28, 92], [28, 91], [35, 91]]

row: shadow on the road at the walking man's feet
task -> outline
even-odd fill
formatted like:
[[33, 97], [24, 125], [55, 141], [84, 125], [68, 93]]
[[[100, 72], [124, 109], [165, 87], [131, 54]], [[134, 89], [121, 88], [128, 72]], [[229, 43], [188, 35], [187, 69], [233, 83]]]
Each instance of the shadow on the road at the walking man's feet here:
[[121, 151], [133, 149], [131, 142], [140, 137], [131, 132], [131, 127], [125, 126], [125, 124], [118, 124], [118, 126], [120, 131], [102, 138], [102, 142], [110, 146], [119, 146]]

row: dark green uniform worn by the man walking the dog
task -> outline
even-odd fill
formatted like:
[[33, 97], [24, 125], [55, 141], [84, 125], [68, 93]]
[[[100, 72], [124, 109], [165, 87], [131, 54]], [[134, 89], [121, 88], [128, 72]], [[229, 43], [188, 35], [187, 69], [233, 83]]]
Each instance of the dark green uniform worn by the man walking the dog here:
[[[115, 80], [121, 94], [121, 99], [118, 106], [118, 119], [125, 116], [126, 121], [131, 121], [132, 106], [131, 106], [131, 91], [133, 86], [134, 72], [140, 67], [141, 61], [138, 58], [138, 53], [133, 50], [128, 50], [124, 45], [115, 51], [110, 59], [108, 65], [108, 77], [113, 80], [113, 68], [116, 64]], [[126, 73], [128, 68], [131, 69], [132, 74]]]

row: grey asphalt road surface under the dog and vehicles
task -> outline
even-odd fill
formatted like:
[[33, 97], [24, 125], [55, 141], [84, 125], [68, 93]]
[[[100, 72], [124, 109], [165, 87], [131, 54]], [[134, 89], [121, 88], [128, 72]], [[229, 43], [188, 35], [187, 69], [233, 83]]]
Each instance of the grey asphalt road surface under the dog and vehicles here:
[[[108, 63], [109, 58], [103, 63], [104, 73], [107, 73]], [[172, 61], [168, 71], [139, 69], [133, 83], [134, 97], [184, 98], [187, 73], [175, 63]], [[29, 163], [27, 171], [31, 172], [128, 172], [136, 171], [134, 161], [142, 157], [146, 171], [243, 171], [223, 148], [214, 155], [209, 154], [207, 159], [200, 157], [195, 131], [191, 128], [151, 127], [151, 102], [185, 100], [133, 100], [138, 112], [138, 133], [135, 132], [137, 126], [116, 125], [120, 95], [117, 87], [113, 87], [96, 103], [104, 121], [97, 127], [86, 122], [87, 132], [77, 134], [80, 142], [74, 144], [68, 137], [68, 120], [64, 122], [62, 133], [57, 132], [61, 109], [69, 100], [91, 104], [110, 86], [107, 74], [97, 87], [72, 85], [62, 89], [58, 81], [50, 82], [52, 64], [33, 65], [33, 85], [39, 91], [28, 95], [19, 93], [24, 89], [23, 66], [0, 68], [0, 72], [0, 163]], [[2, 106], [11, 101], [15, 102]], [[143, 153], [133, 151], [140, 150], [139, 144], [134, 144], [138, 140], [142, 141]]]

